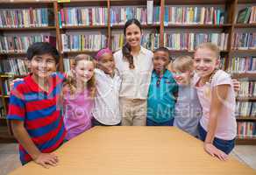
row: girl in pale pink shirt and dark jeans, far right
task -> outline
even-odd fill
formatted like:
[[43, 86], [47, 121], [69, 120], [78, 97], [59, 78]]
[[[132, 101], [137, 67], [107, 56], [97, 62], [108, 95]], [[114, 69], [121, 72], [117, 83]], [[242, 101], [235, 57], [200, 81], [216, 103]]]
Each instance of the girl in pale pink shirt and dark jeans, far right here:
[[237, 123], [235, 118], [235, 92], [228, 73], [218, 70], [217, 45], [203, 43], [196, 49], [194, 67], [197, 95], [203, 107], [198, 125], [204, 150], [211, 156], [226, 160], [235, 144]]

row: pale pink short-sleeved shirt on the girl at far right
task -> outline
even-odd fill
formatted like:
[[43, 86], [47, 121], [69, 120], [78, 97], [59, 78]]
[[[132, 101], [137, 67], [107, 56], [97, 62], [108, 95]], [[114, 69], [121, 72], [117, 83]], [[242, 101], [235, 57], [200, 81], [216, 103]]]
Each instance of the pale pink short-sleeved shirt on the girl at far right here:
[[[200, 80], [198, 75], [195, 76], [195, 85]], [[235, 117], [236, 97], [231, 81], [231, 76], [222, 70], [218, 70], [212, 78], [210, 84], [205, 84], [203, 87], [196, 87], [199, 101], [203, 107], [203, 116], [200, 123], [204, 130], [208, 130], [208, 124], [210, 119], [210, 101], [211, 90], [218, 85], [230, 85], [227, 98], [223, 104], [217, 121], [217, 130], [215, 137], [232, 140], [237, 135], [237, 123]]]

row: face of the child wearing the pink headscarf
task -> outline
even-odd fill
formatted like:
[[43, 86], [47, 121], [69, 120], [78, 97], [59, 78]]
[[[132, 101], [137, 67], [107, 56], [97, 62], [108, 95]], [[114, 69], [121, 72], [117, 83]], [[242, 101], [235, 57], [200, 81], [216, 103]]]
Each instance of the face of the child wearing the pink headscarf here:
[[112, 74], [115, 69], [113, 54], [109, 52], [104, 53], [98, 61], [98, 67], [103, 70], [104, 73]]

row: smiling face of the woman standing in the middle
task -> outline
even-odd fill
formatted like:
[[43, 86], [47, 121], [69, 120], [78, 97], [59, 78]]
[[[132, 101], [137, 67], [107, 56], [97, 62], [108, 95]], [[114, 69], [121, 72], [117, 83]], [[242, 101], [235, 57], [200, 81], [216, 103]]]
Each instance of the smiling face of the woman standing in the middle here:
[[132, 24], [129, 25], [125, 30], [126, 41], [131, 47], [138, 47], [140, 45], [142, 33], [139, 26]]

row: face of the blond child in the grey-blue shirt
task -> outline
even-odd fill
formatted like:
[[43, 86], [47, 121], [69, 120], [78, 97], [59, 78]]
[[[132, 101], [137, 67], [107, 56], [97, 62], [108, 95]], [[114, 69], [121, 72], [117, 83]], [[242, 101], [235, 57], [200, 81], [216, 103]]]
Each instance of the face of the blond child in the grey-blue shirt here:
[[189, 85], [191, 81], [191, 71], [181, 72], [178, 70], [173, 70], [174, 79], [178, 85]]

